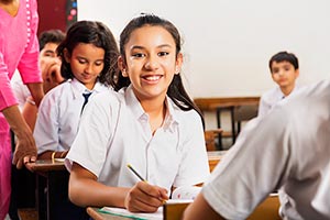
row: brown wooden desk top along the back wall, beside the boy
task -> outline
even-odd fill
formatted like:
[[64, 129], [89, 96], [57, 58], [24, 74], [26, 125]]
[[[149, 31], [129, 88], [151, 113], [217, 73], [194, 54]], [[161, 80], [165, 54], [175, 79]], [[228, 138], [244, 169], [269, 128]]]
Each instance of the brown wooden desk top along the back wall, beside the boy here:
[[215, 111], [226, 107], [255, 106], [260, 97], [196, 98], [194, 101], [201, 111]]

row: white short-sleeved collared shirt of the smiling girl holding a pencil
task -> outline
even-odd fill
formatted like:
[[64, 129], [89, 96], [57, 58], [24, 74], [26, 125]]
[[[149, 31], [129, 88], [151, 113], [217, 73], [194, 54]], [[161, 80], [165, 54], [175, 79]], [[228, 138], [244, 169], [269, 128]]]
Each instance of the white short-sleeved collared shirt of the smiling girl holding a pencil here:
[[204, 183], [209, 175], [202, 123], [195, 110], [183, 111], [167, 98], [167, 113], [154, 135], [131, 86], [96, 96], [86, 107], [66, 157], [108, 186], [132, 187], [140, 179], [167, 188]]

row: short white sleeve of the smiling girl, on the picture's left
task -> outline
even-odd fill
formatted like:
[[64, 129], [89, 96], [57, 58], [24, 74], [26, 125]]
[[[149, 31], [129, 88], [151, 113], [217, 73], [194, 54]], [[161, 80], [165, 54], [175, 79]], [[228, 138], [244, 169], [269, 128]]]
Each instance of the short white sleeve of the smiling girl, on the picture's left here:
[[[109, 103], [116, 99], [109, 92], [95, 96], [84, 109], [78, 133], [66, 156], [65, 165], [70, 172], [75, 162], [99, 177], [107, 158], [109, 140], [116, 123], [118, 108]], [[116, 101], [114, 101], [116, 102]], [[92, 147], [91, 147], [92, 146]]]

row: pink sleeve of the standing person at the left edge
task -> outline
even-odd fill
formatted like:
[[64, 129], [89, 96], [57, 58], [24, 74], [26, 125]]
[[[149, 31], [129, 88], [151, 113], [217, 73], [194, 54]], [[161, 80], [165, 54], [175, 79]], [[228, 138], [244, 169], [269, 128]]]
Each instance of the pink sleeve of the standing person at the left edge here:
[[[28, 8], [29, 10], [29, 8]], [[37, 15], [37, 3], [35, 0], [30, 0], [30, 13], [31, 13], [31, 23], [30, 36], [28, 38], [28, 46], [22, 55], [22, 58], [19, 62], [18, 69], [21, 74], [22, 80], [24, 84], [30, 82], [42, 82], [41, 70], [38, 66], [38, 40], [37, 40], [37, 25], [38, 25], [38, 15]]]

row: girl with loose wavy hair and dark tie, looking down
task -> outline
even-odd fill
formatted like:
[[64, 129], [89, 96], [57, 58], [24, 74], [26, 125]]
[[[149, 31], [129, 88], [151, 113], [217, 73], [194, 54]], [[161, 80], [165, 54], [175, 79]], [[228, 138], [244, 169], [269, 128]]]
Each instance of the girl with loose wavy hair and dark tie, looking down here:
[[[117, 42], [100, 22], [79, 21], [58, 45], [61, 73], [67, 81], [47, 92], [34, 129], [40, 158], [64, 158], [78, 130], [85, 102], [108, 89], [110, 73], [118, 73]], [[114, 75], [114, 74], [113, 74]]]

